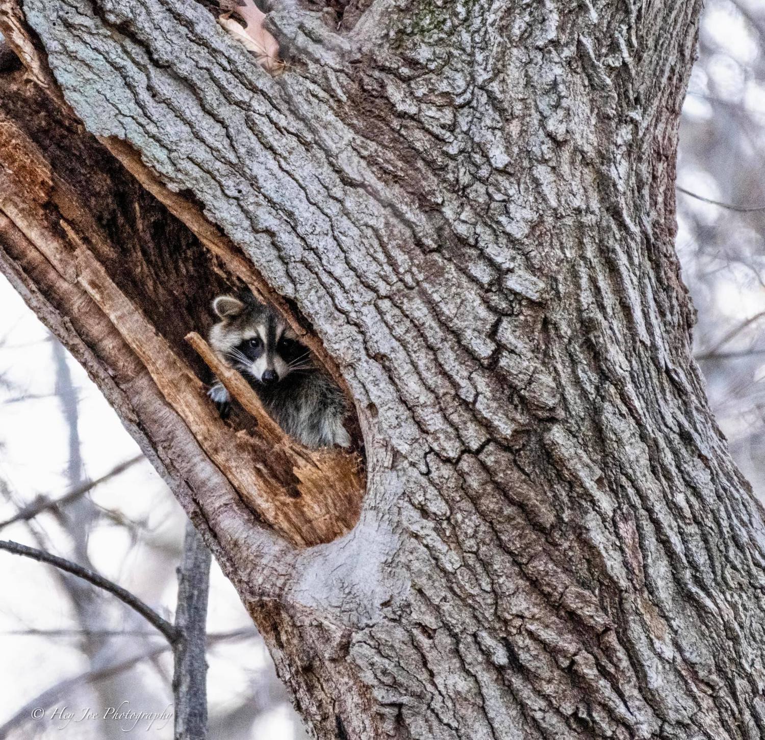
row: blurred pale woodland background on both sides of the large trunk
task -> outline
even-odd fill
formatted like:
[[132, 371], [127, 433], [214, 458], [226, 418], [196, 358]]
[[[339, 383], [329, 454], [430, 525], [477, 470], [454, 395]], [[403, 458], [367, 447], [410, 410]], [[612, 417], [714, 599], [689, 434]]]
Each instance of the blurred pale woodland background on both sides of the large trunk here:
[[[760, 8], [757, 8], [760, 5]], [[695, 355], [731, 452], [765, 498], [765, 8], [708, 0], [682, 115], [677, 249], [698, 310]], [[97, 485], [91, 485], [105, 478]], [[90, 486], [90, 487], [89, 487]], [[87, 488], [66, 506], [2, 523]], [[82, 368], [0, 277], [0, 537], [76, 560], [170, 617], [184, 514]], [[125, 736], [80, 719], [171, 705], [164, 639], [113, 596], [0, 553], [0, 738]], [[210, 737], [304, 738], [268, 652], [216, 564]], [[21, 670], [23, 667], [23, 670]], [[35, 707], [60, 719], [35, 722]], [[67, 721], [67, 712], [74, 712]], [[103, 710], [102, 712], [103, 713]], [[138, 729], [146, 732], [146, 722]], [[149, 736], [171, 738], [172, 720]]]

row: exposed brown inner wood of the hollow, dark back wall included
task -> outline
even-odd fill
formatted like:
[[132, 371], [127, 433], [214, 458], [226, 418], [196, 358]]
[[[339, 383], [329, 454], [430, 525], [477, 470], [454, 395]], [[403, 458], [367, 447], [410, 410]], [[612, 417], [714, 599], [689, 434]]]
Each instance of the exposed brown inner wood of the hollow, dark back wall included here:
[[[95, 304], [90, 310], [97, 307], [108, 317], [139, 367], [262, 521], [301, 547], [349, 531], [363, 494], [360, 456], [294, 443], [256, 406], [246, 381], [221, 367], [196, 335], [195, 349], [258, 420], [249, 429], [229, 427], [207, 399], [199, 379], [203, 366], [184, 339], [188, 329], [210, 323], [207, 307], [225, 290], [228, 268], [240, 268], [254, 283], [252, 268], [233, 248], [223, 267], [90, 135], [64, 128], [57, 109], [20, 75], [0, 84], [0, 211], [28, 239], [28, 248], [34, 245], [63, 281], [82, 288]], [[107, 213], [109, 208], [119, 213]], [[132, 210], [131, 220], [125, 210]], [[199, 221], [196, 226], [209, 245], [214, 229]]]

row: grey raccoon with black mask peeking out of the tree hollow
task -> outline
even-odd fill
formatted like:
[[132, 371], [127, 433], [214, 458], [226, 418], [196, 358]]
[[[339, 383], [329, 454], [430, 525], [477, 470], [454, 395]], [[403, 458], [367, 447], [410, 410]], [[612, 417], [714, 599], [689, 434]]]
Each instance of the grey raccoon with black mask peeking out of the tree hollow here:
[[[244, 375], [286, 433], [314, 449], [350, 446], [343, 391], [282, 316], [252, 294], [218, 296], [213, 311], [220, 321], [210, 329], [210, 346]], [[216, 380], [208, 395], [227, 415], [231, 399], [223, 384]]]

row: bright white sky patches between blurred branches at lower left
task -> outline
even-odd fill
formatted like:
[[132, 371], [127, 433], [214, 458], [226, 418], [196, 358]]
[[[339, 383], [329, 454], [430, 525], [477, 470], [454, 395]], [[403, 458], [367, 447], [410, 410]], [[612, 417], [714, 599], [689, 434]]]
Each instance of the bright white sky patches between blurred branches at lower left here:
[[[11, 487], [15, 501], [29, 502], [37, 495], [54, 498], [67, 492], [67, 426], [55, 396], [54, 343], [47, 329], [37, 320], [16, 294], [5, 277], [0, 276], [0, 480]], [[118, 463], [138, 454], [138, 446], [120, 424], [114, 411], [87, 377], [83, 368], [67, 353], [67, 364], [79, 399], [80, 453], [88, 479], [97, 479]], [[28, 396], [24, 401], [16, 401]], [[126, 520], [143, 521], [138, 540], [131, 541], [129, 530], [118, 522], [104, 521], [90, 534], [88, 553], [104, 576], [135, 592], [149, 605], [168, 617], [174, 610], [176, 581], [174, 569], [181, 554], [185, 517], [183, 511], [145, 461], [105, 482], [90, 493], [96, 505], [116, 511]], [[10, 518], [16, 506], [0, 496], [0, 521]], [[52, 514], [40, 518], [54, 553], [67, 557], [69, 537]], [[38, 547], [25, 524], [11, 524], [0, 538]], [[86, 658], [69, 635], [10, 634], [30, 629], [51, 631], [77, 629], [76, 615], [70, 600], [54, 576], [53, 568], [0, 551], [0, 725], [18, 709], [63, 678], [87, 669]], [[129, 612], [112, 596], [105, 595], [109, 619], [103, 628], [125, 628]], [[140, 621], [140, 618], [139, 618]], [[210, 633], [231, 631], [252, 625], [233, 586], [213, 563], [210, 587], [210, 610], [207, 628]], [[131, 621], [129, 627], [135, 629]], [[143, 627], [140, 627], [143, 629]], [[153, 631], [150, 625], [145, 630]], [[122, 638], [131, 641], [135, 638]], [[151, 638], [161, 644], [161, 638]], [[172, 675], [170, 655], [160, 661], [167, 676]], [[233, 709], [248, 695], [253, 683], [269, 678], [272, 664], [257, 638], [222, 642], [210, 649], [208, 662], [208, 698], [210, 716]], [[18, 670], [22, 667], [23, 670]], [[161, 712], [171, 699], [167, 680], [151, 667], [142, 670], [142, 678], [156, 696], [155, 706], [142, 711]], [[61, 706], [67, 696], [62, 697]], [[70, 702], [70, 708], [72, 707]], [[76, 703], [75, 703], [76, 704]], [[80, 702], [82, 704], [82, 702]], [[75, 709], [80, 709], [77, 705]], [[134, 707], [135, 709], [135, 707]], [[10, 738], [31, 736], [30, 726], [47, 732], [34, 735], [59, 740], [100, 738], [95, 724], [86, 720], [70, 722], [57, 729], [55, 722], [41, 720], [27, 725]], [[295, 717], [290, 706], [280, 705], [253, 726], [252, 738], [292, 740]], [[94, 734], [95, 733], [95, 734]], [[146, 737], [172, 738], [172, 723], [164, 729], [151, 729]]]

